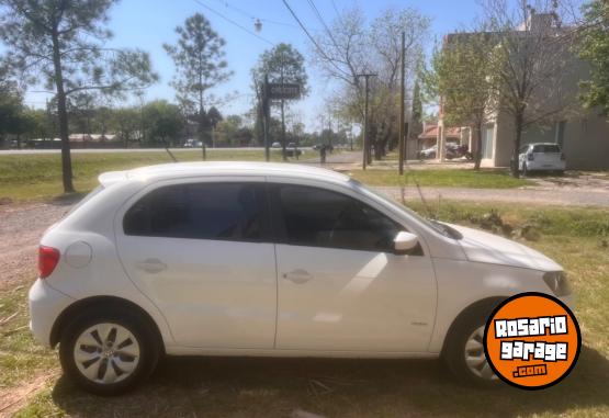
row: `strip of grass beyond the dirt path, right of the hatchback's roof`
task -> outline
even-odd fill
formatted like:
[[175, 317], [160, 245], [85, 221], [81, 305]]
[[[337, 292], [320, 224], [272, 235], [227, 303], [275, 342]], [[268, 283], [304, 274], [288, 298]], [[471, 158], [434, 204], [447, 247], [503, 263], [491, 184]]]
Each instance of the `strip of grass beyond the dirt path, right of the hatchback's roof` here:
[[415, 185], [446, 188], [510, 189], [535, 183], [515, 179], [507, 170], [483, 169], [421, 169], [409, 170], [399, 176], [396, 170], [353, 170], [353, 178], [370, 185]]

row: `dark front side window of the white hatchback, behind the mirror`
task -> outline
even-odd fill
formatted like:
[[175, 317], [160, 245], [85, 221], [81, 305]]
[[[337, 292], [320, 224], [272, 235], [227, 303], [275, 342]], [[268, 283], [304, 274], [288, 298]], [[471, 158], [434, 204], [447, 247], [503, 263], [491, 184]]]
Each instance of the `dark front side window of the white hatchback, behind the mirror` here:
[[364, 203], [328, 190], [281, 185], [277, 200], [291, 245], [392, 252], [393, 239], [404, 229]]

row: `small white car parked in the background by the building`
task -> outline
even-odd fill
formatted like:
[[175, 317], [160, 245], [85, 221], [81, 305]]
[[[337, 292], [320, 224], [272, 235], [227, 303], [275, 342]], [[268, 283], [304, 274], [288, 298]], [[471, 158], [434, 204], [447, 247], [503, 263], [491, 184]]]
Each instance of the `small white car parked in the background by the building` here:
[[518, 168], [527, 176], [531, 171], [555, 171], [562, 174], [566, 158], [559, 144], [535, 143], [520, 147]]

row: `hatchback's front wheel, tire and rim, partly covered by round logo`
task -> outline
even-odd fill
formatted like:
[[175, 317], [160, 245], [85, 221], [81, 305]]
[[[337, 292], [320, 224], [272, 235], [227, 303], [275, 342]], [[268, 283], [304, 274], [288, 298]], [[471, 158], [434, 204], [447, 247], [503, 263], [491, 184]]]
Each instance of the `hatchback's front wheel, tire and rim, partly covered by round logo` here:
[[496, 386], [499, 382], [484, 353], [484, 328], [487, 309], [474, 309], [456, 319], [447, 337], [442, 357], [461, 381], [477, 386]]

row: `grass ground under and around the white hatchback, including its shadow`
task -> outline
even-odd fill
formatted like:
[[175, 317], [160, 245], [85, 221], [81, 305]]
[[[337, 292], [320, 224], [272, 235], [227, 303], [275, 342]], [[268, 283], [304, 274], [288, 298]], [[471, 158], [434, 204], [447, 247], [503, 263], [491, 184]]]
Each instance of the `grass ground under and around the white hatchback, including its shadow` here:
[[[534, 229], [537, 239], [523, 242], [563, 264], [577, 294], [584, 348], [575, 370], [554, 387], [464, 387], [439, 361], [168, 359], [144, 387], [116, 398], [52, 380], [16, 416], [609, 416], [609, 211], [444, 202], [438, 217], [480, 226], [497, 219], [492, 210], [515, 229]], [[0, 327], [0, 334], [14, 330], [0, 342], [0, 385], [8, 387], [57, 364], [56, 354], [37, 348], [20, 328], [26, 324], [24, 292], [0, 295], [0, 320], [18, 312]]]

